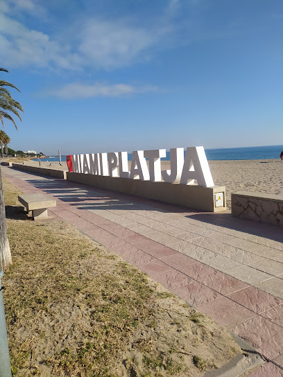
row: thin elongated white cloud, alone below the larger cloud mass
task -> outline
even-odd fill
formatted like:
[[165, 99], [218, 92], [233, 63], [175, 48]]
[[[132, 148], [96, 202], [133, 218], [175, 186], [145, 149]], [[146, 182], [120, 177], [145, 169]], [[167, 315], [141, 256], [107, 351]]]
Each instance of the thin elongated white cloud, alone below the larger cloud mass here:
[[157, 87], [146, 85], [134, 87], [128, 84], [107, 85], [96, 82], [93, 85], [85, 85], [79, 82], [73, 82], [64, 87], [49, 91], [49, 95], [58, 98], [92, 98], [92, 97], [121, 97], [130, 94], [145, 93], [148, 91], [158, 91]]

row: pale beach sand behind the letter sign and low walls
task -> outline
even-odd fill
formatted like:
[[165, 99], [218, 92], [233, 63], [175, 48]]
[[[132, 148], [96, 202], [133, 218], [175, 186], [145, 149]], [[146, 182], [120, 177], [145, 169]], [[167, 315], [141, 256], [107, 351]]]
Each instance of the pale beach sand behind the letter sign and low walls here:
[[[24, 161], [25, 165], [39, 166], [38, 161]], [[231, 193], [252, 191], [283, 194], [283, 162], [280, 159], [208, 161], [215, 186], [226, 187], [226, 200], [230, 209]], [[55, 162], [41, 162], [42, 168], [67, 170]], [[170, 168], [170, 161], [162, 161], [162, 170]]]

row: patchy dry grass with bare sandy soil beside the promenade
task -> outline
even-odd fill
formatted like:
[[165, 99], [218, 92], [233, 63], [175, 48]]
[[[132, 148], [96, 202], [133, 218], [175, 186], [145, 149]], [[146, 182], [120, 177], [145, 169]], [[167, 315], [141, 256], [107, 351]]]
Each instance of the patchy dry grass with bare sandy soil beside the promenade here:
[[17, 189], [4, 189], [13, 376], [202, 376], [240, 351], [221, 326], [71, 225], [28, 220]]

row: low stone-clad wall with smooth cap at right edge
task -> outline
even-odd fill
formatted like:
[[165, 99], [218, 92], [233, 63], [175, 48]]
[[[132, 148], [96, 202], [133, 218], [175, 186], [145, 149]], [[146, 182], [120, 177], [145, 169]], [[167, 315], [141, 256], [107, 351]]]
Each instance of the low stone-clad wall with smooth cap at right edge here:
[[283, 195], [232, 193], [231, 205], [232, 216], [283, 227]]

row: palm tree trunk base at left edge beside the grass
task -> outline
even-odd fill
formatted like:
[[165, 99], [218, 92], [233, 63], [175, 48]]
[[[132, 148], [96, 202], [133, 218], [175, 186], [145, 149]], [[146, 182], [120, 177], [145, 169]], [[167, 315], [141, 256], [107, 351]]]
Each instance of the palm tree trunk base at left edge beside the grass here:
[[12, 256], [6, 231], [6, 213], [0, 168], [0, 271], [6, 270], [6, 268], [8, 268], [8, 266], [11, 264]]

